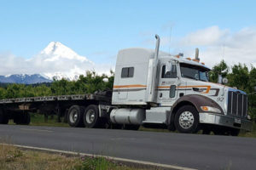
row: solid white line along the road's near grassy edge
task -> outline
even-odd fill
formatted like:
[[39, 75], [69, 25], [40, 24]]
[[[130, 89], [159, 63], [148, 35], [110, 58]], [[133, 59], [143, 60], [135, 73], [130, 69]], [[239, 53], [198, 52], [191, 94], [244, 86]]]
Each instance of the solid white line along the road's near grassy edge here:
[[[0, 143], [4, 144], [4, 143]], [[154, 163], [150, 161], [137, 161], [137, 160], [131, 160], [131, 159], [125, 159], [125, 158], [119, 158], [119, 157], [113, 157], [113, 156], [101, 156], [101, 155], [93, 155], [93, 154], [85, 154], [85, 153], [79, 153], [79, 152], [73, 152], [73, 151], [66, 151], [66, 150], [52, 150], [48, 148], [40, 148], [40, 147], [33, 147], [33, 146], [26, 146], [26, 145], [19, 145], [19, 144], [4, 144], [4, 145], [12, 145], [19, 148], [29, 149], [29, 150], [44, 150], [49, 152], [55, 152], [55, 153], [61, 153], [61, 154], [68, 154], [68, 155], [74, 155], [74, 156], [94, 156], [94, 157], [105, 157], [113, 161], [123, 161], [128, 163], [136, 163], [141, 164], [145, 166], [153, 166], [153, 167], [163, 167], [163, 168], [170, 168], [170, 169], [176, 169], [176, 170], [196, 170], [189, 167], [178, 167], [173, 165], [167, 165], [167, 164], [161, 164], [161, 163]]]

